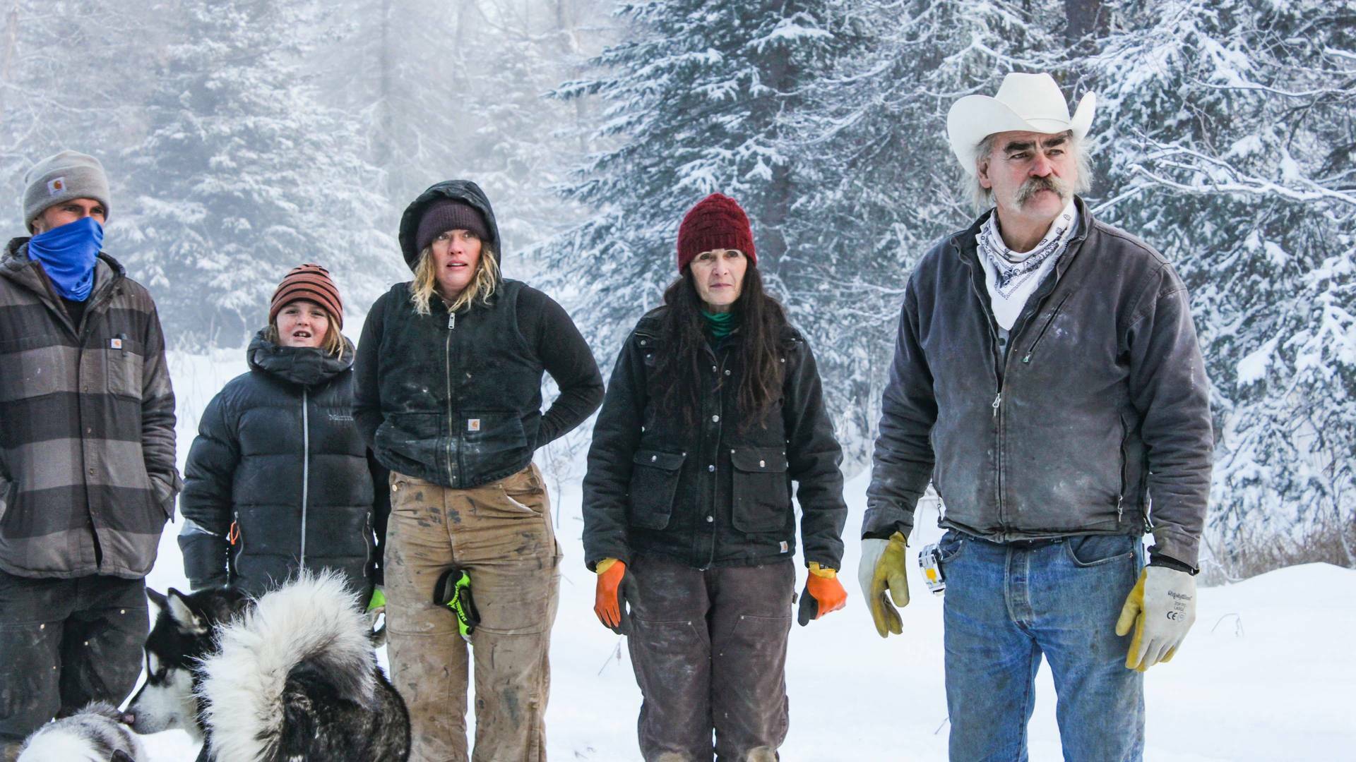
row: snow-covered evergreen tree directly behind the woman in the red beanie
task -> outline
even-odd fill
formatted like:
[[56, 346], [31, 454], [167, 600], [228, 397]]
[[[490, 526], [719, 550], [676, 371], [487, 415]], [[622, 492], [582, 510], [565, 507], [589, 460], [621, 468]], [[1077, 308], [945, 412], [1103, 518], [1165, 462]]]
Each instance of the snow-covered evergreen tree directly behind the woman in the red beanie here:
[[575, 313], [602, 362], [610, 366], [625, 331], [662, 302], [675, 277], [678, 222], [713, 191], [747, 210], [767, 289], [793, 319], [811, 336], [820, 321], [841, 320], [830, 305], [808, 309], [814, 294], [803, 289], [818, 281], [799, 278], [804, 254], [786, 235], [796, 202], [818, 190], [797, 176], [786, 138], [803, 85], [839, 43], [829, 3], [650, 0], [622, 4], [618, 15], [624, 41], [594, 60], [598, 76], [560, 88], [605, 103], [595, 138], [610, 148], [567, 188], [595, 214], [541, 249], [557, 282], [575, 290]]

